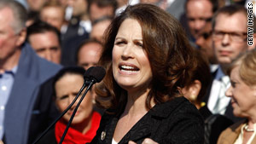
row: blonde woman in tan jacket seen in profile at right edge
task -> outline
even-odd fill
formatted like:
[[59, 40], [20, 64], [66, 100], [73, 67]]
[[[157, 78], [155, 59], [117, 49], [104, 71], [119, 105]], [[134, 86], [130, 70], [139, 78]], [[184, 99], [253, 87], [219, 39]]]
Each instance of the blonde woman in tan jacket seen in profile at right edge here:
[[231, 63], [228, 74], [231, 86], [226, 96], [231, 98], [236, 117], [247, 118], [224, 130], [218, 144], [256, 143], [256, 50], [240, 55]]

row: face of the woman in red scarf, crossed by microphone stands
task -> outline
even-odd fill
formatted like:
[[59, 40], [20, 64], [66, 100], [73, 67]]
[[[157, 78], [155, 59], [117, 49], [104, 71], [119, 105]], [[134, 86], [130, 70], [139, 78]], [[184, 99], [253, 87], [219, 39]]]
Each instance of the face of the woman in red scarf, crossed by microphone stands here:
[[[83, 76], [79, 74], [65, 74], [62, 78], [60, 78], [55, 83], [55, 91], [56, 91], [56, 106], [59, 108], [60, 112], [66, 110], [66, 108], [73, 101], [75, 96], [79, 93], [79, 89], [84, 84]], [[80, 97], [84, 94], [80, 95]], [[74, 108], [77, 106], [78, 101], [73, 104], [73, 107], [63, 116], [63, 118], [68, 122], [71, 118]], [[92, 112], [92, 92], [88, 91], [85, 95], [84, 100], [79, 106], [78, 111], [73, 118], [72, 124], [79, 124], [84, 122], [85, 119], [90, 118], [90, 114]]]

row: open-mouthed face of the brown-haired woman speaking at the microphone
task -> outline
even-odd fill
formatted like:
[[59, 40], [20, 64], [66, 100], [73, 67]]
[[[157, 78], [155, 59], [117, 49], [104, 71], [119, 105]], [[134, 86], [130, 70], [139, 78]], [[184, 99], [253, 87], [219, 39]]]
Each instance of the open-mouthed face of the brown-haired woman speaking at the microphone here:
[[152, 79], [148, 56], [143, 49], [142, 27], [126, 19], [119, 27], [113, 45], [113, 78], [128, 92], [147, 89]]

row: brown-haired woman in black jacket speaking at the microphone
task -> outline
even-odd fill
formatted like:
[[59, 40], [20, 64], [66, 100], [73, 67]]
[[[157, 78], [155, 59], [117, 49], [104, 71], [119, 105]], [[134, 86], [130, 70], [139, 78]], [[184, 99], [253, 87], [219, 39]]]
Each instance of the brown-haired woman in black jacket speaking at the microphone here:
[[151, 4], [128, 6], [105, 33], [96, 102], [107, 108], [91, 143], [197, 143], [203, 120], [181, 97], [193, 49], [179, 22]]

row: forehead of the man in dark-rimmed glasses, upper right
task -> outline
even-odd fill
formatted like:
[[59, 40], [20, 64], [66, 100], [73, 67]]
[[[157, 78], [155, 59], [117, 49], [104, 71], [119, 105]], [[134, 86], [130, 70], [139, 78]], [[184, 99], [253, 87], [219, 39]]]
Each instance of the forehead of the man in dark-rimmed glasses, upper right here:
[[247, 31], [247, 17], [245, 14], [218, 14], [216, 17], [215, 30], [227, 32], [246, 32]]

